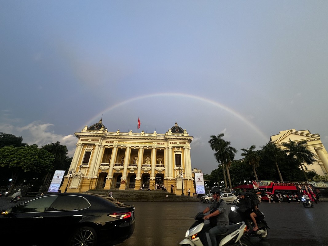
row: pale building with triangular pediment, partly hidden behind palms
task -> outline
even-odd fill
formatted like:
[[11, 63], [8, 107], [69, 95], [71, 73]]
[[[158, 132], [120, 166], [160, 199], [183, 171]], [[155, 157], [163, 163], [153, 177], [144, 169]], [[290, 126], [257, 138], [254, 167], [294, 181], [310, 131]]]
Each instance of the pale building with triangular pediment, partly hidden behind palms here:
[[289, 142], [289, 139], [293, 142], [306, 140], [306, 148], [314, 154], [316, 161], [313, 165], [305, 165], [307, 172], [313, 171], [321, 176], [328, 174], [328, 153], [320, 140], [319, 134], [312, 134], [308, 130], [296, 131], [295, 129], [291, 129], [271, 136], [270, 141], [281, 149], [286, 149], [282, 146], [282, 143]]

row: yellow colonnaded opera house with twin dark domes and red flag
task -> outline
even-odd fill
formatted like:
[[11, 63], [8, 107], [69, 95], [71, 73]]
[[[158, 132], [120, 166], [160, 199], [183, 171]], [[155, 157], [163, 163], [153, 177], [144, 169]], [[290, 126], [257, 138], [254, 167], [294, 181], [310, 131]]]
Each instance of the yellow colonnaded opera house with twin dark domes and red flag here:
[[78, 138], [70, 170], [61, 190], [154, 190], [164, 184], [169, 192], [195, 192], [190, 158], [193, 140], [175, 122], [165, 134], [108, 132], [102, 119], [74, 133]]

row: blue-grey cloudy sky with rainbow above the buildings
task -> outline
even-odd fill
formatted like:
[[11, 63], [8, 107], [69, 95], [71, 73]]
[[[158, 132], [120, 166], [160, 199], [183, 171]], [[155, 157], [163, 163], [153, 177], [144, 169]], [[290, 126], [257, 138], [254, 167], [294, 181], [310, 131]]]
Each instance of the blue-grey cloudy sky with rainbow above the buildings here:
[[[0, 0], [0, 131], [73, 156], [85, 125], [242, 148], [296, 129], [328, 147], [328, 1]], [[137, 121], [140, 118], [140, 129]]]

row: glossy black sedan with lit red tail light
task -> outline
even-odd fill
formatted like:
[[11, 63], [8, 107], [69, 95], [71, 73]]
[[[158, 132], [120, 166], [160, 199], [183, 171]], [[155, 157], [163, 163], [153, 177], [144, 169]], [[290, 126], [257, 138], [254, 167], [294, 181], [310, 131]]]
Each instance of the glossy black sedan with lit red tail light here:
[[133, 205], [90, 193], [43, 195], [0, 215], [2, 234], [24, 245], [115, 245], [132, 236], [134, 222]]

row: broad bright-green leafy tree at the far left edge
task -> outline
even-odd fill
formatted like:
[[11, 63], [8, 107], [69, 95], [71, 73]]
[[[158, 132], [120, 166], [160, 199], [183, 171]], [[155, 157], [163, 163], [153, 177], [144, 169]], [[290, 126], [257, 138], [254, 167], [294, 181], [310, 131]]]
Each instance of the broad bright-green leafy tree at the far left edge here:
[[0, 149], [0, 167], [11, 170], [12, 185], [23, 173], [49, 172], [53, 166], [53, 156], [36, 144], [26, 147], [5, 146]]

